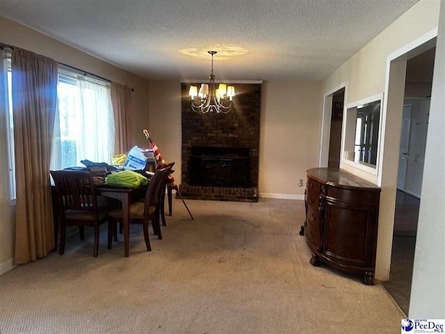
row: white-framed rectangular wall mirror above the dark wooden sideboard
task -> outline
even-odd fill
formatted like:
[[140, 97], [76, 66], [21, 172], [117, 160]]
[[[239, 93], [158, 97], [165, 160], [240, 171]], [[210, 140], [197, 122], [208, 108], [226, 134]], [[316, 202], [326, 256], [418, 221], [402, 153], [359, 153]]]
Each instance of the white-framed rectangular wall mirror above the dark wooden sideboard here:
[[343, 164], [377, 175], [383, 94], [346, 105]]

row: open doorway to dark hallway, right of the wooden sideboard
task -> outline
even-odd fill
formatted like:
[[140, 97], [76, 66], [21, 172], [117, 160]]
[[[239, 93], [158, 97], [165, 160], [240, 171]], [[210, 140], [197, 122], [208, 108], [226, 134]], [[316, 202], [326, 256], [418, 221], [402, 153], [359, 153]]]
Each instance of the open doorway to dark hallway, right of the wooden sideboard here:
[[391, 267], [389, 281], [383, 283], [405, 315], [410, 306], [434, 61], [432, 47], [406, 64]]

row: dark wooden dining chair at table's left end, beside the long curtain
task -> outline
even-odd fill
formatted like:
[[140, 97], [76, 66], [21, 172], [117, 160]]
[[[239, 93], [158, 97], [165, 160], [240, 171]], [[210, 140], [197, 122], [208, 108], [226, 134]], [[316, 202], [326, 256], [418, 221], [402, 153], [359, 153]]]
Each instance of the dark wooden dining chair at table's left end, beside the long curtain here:
[[111, 205], [98, 205], [95, 186], [89, 172], [78, 170], [51, 170], [57, 195], [60, 223], [60, 250], [65, 252], [67, 225], [79, 226], [83, 240], [83, 228], [94, 228], [95, 241], [93, 256], [99, 250], [99, 225], [107, 220], [106, 214]]

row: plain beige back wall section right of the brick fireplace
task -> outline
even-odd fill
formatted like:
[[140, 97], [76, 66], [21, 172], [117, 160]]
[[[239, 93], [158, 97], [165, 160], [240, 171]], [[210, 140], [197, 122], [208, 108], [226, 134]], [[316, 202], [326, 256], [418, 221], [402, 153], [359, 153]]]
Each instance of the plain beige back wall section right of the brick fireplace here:
[[304, 198], [306, 170], [318, 166], [321, 83], [266, 81], [261, 87], [259, 194]]

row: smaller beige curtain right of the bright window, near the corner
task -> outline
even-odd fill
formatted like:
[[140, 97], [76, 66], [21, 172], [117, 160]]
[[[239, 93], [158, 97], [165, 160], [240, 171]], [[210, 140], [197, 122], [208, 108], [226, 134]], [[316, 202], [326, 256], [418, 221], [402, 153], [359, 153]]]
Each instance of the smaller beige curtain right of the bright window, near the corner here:
[[114, 152], [120, 154], [131, 149], [131, 88], [111, 83], [115, 142]]

